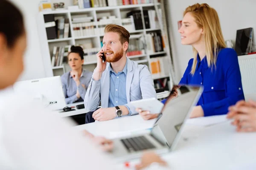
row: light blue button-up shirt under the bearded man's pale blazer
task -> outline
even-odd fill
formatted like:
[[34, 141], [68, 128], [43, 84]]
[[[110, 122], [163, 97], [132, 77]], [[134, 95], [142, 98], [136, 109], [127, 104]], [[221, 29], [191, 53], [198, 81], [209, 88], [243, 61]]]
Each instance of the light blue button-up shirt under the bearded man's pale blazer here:
[[109, 88], [109, 99], [108, 107], [115, 107], [119, 105], [125, 105], [131, 113], [130, 108], [126, 105], [126, 74], [127, 74], [127, 61], [122, 71], [117, 74], [113, 71], [112, 67], [109, 67], [110, 73], [110, 88]]

